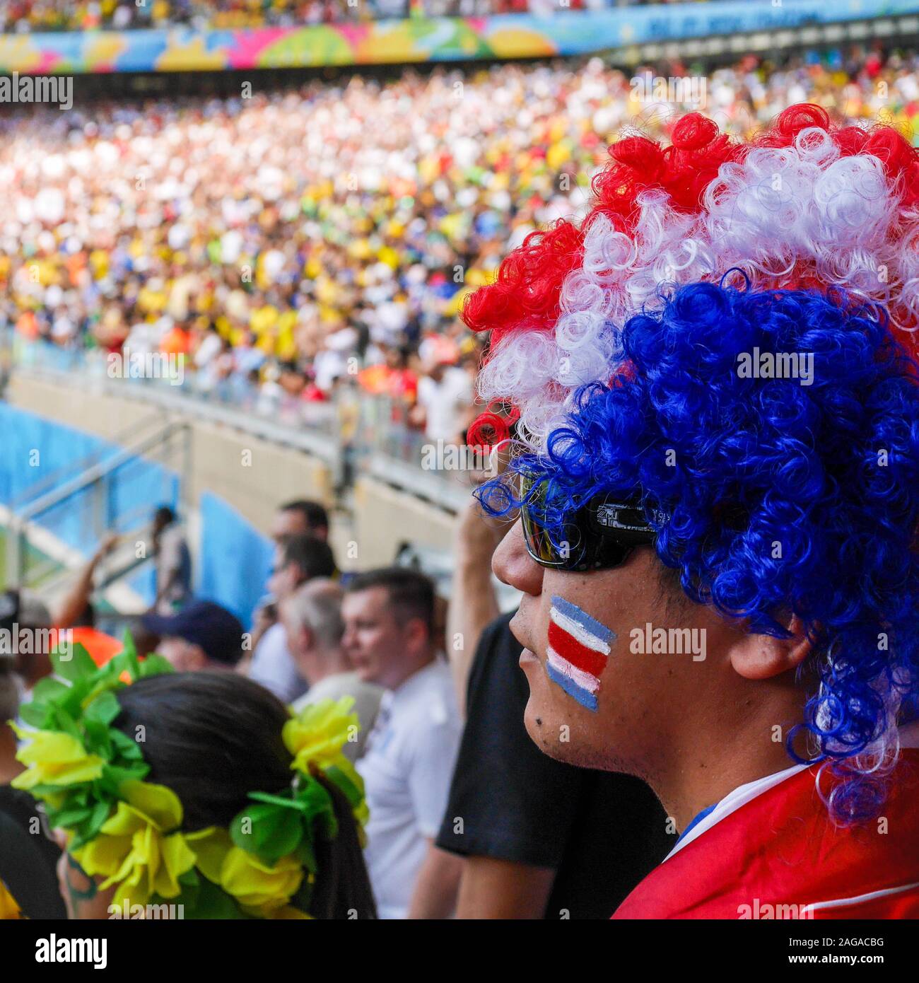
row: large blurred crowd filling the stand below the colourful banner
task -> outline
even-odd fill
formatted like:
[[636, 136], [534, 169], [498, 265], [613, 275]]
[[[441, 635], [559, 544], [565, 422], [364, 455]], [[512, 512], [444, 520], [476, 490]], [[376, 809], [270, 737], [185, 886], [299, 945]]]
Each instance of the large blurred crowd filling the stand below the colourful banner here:
[[[874, 51], [748, 57], [706, 79], [702, 108], [745, 134], [806, 100], [915, 141], [915, 69]], [[664, 136], [674, 111], [700, 108], [637, 94], [594, 59], [11, 115], [0, 324], [186, 356], [197, 390], [265, 413], [355, 381], [407, 411], [425, 378], [431, 399], [465, 403], [481, 355], [458, 318], [466, 293], [583, 207], [618, 131]], [[434, 415], [429, 436], [462, 432], [463, 413]], [[423, 428], [425, 408], [410, 419]]]

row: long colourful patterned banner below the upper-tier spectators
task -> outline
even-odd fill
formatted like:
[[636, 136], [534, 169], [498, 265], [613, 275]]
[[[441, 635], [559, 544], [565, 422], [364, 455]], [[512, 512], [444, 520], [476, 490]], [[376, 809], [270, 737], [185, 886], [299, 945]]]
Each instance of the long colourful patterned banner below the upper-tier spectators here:
[[630, 44], [919, 12], [919, 0], [731, 0], [248, 30], [90, 30], [0, 36], [0, 73], [77, 75], [540, 58]]

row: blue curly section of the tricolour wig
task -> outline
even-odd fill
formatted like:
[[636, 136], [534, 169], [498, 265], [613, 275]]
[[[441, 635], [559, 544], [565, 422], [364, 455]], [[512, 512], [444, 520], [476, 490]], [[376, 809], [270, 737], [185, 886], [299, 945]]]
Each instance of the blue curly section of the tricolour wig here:
[[[882, 309], [841, 291], [694, 283], [661, 299], [622, 327], [610, 384], [578, 390], [545, 450], [477, 493], [507, 515], [510, 478], [534, 479], [523, 497], [556, 545], [594, 495], [640, 497], [670, 514], [657, 552], [690, 600], [776, 637], [797, 615], [813, 643], [799, 681], [819, 680], [809, 760], [833, 821], [863, 822], [917, 704], [917, 366]], [[783, 377], [757, 349], [787, 356]]]

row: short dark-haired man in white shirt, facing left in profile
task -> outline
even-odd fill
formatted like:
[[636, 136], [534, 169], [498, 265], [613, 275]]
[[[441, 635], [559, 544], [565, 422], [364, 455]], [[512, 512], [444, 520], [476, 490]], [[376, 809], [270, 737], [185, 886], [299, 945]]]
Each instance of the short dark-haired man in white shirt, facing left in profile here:
[[367, 867], [380, 918], [452, 914], [462, 860], [433, 844], [462, 733], [450, 670], [436, 655], [434, 591], [392, 567], [347, 587], [342, 648], [361, 679], [385, 687], [358, 763], [371, 818]]

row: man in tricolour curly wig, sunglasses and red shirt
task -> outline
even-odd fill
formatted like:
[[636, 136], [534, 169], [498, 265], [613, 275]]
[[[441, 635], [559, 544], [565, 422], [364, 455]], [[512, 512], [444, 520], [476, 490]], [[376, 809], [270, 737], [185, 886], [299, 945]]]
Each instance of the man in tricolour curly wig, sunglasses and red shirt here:
[[919, 154], [812, 105], [670, 139], [464, 312], [527, 728], [681, 833], [616, 918], [919, 917]]

